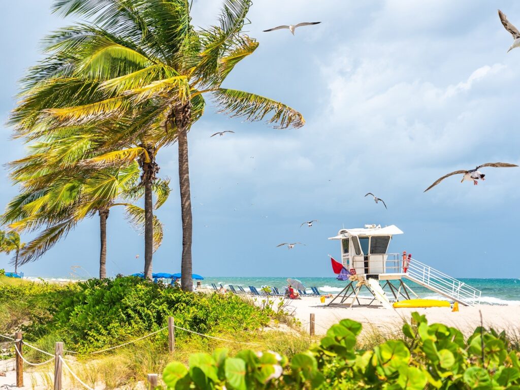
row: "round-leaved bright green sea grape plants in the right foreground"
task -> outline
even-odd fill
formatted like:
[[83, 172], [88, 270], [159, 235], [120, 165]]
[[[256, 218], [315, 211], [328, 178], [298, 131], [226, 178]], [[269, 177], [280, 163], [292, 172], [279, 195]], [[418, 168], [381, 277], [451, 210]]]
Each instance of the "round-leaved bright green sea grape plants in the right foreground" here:
[[412, 314], [405, 340], [387, 340], [356, 350], [361, 324], [342, 320], [319, 345], [291, 360], [273, 352], [226, 350], [195, 354], [189, 369], [178, 362], [164, 369], [167, 389], [518, 389], [520, 353], [504, 332], [477, 328], [467, 339], [443, 324]]

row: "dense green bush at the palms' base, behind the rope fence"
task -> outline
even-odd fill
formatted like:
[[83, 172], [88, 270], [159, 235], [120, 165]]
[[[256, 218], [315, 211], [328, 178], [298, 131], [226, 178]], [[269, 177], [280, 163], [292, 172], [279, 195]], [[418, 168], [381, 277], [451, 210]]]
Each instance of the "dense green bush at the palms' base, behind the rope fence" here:
[[[77, 291], [63, 297], [50, 321], [32, 323], [26, 337], [54, 335], [68, 348], [92, 352], [157, 331], [167, 324], [204, 334], [254, 331], [267, 325], [268, 313], [232, 294], [185, 293], [162, 283], [135, 277], [92, 279], [77, 283]], [[176, 329], [176, 340], [191, 337]], [[166, 332], [155, 340], [167, 345]]]

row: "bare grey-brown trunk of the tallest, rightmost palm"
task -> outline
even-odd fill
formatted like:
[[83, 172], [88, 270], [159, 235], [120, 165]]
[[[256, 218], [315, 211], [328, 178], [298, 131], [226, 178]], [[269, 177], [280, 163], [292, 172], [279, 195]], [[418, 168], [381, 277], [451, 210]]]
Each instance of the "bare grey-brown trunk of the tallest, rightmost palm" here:
[[180, 287], [184, 291], [193, 291], [193, 280], [191, 279], [193, 218], [191, 215], [190, 173], [188, 164], [188, 126], [190, 116], [191, 107], [189, 104], [176, 107], [175, 122], [177, 125], [177, 141], [179, 147], [180, 207], [183, 220], [183, 255], [180, 263]]

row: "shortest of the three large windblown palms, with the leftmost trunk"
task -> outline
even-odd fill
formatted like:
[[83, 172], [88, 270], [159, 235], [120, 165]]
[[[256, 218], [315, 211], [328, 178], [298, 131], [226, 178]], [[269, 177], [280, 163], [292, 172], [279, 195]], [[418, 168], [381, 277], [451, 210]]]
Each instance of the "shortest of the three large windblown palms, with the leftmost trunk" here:
[[[144, 210], [119, 199], [135, 200], [142, 197], [139, 180], [139, 167], [136, 162], [116, 168], [94, 170], [75, 165], [68, 171], [64, 166], [54, 166], [53, 155], [60, 153], [57, 140], [41, 144], [29, 157], [11, 163], [16, 167], [11, 173], [15, 182], [21, 181], [25, 191], [15, 197], [7, 206], [1, 220], [4, 224], [17, 230], [45, 229], [32, 240], [22, 251], [22, 264], [40, 258], [59, 239], [67, 236], [83, 218], [99, 215], [100, 222], [100, 279], [106, 278], [106, 224], [109, 211], [114, 206], [126, 208], [127, 219], [141, 230]], [[53, 154], [54, 153], [54, 154]], [[44, 156], [47, 163], [37, 167], [34, 163], [36, 155]], [[41, 157], [43, 158], [43, 157]], [[24, 161], [31, 161], [25, 166]], [[60, 160], [63, 163], [63, 160]], [[42, 172], [46, 171], [46, 172]], [[48, 177], [47, 177], [48, 176]], [[168, 180], [155, 183], [153, 190], [158, 193], [160, 207], [167, 199], [170, 189]], [[153, 219], [153, 250], [157, 250], [162, 241], [162, 224]]]

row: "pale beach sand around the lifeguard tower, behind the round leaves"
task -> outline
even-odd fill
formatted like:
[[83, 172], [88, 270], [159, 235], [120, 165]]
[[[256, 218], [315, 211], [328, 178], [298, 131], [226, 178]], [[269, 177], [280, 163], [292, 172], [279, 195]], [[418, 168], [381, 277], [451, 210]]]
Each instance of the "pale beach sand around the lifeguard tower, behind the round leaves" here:
[[[279, 298], [276, 301], [274, 307], [276, 307]], [[390, 333], [400, 329], [403, 321], [409, 322], [413, 311], [425, 314], [429, 323], [444, 323], [460, 329], [465, 334], [473, 333], [474, 329], [480, 325], [479, 312], [482, 311], [485, 327], [520, 334], [520, 306], [479, 305], [466, 307], [459, 305], [459, 311], [453, 313], [447, 307], [417, 309], [385, 309], [375, 305], [354, 306], [353, 308], [328, 307], [327, 303], [330, 301], [329, 298], [325, 304], [322, 304], [319, 297], [303, 297], [301, 300], [290, 300], [288, 309], [294, 310], [295, 317], [302, 321], [304, 329], [308, 329], [309, 316], [314, 313], [316, 334], [325, 334], [331, 325], [344, 318], [361, 322], [365, 332], [376, 328], [380, 329], [382, 333]], [[362, 304], [369, 302], [369, 300], [362, 298], [360, 298], [360, 301]]]

